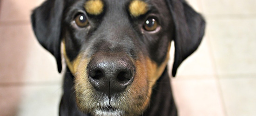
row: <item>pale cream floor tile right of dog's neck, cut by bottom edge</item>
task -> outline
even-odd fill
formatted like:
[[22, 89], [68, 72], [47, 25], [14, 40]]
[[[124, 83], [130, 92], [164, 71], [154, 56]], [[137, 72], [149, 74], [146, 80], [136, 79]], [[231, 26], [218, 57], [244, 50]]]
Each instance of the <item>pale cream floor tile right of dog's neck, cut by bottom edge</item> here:
[[179, 116], [225, 116], [214, 79], [172, 79]]

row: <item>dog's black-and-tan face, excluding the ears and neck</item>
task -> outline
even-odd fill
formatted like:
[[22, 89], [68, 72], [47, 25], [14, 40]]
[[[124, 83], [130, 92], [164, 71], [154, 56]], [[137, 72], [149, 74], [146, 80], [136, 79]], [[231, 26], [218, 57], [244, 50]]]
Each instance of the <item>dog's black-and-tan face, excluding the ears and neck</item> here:
[[166, 3], [78, 0], [64, 17], [64, 56], [80, 110], [144, 111], [168, 61], [174, 24]]

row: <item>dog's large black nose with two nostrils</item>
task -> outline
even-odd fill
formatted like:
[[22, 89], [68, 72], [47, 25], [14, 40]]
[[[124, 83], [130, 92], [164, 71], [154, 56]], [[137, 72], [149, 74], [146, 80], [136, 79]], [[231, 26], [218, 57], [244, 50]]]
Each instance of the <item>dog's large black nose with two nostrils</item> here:
[[88, 64], [88, 77], [97, 91], [108, 97], [123, 92], [132, 83], [134, 65], [126, 55], [94, 55]]

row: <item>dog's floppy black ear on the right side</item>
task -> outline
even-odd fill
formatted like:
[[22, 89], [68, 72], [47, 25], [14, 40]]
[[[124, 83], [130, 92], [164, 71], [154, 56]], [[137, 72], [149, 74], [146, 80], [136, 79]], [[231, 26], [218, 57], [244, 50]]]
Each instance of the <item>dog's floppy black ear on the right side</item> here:
[[177, 68], [198, 48], [204, 35], [205, 21], [185, 0], [167, 0], [175, 23], [175, 58], [172, 75]]

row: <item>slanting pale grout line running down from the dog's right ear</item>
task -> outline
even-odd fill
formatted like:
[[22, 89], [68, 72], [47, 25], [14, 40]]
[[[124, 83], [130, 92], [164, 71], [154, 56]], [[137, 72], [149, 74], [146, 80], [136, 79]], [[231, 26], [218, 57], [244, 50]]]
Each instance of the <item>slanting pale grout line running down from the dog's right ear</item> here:
[[210, 36], [209, 36], [209, 28], [208, 28], [208, 35], [207, 35], [207, 43], [208, 43], [208, 48], [209, 48], [209, 55], [210, 55], [210, 59], [212, 61], [212, 64], [213, 64], [213, 70], [214, 70], [214, 77], [215, 77], [215, 80], [216, 80], [216, 86], [217, 86], [217, 90], [218, 90], [218, 93], [219, 93], [219, 97], [221, 99], [221, 104], [222, 104], [222, 110], [223, 110], [223, 113], [225, 116], [228, 116], [228, 112], [227, 112], [227, 107], [226, 107], [226, 104], [224, 102], [224, 97], [223, 97], [223, 91], [222, 91], [222, 88], [221, 88], [221, 82], [220, 82], [220, 77], [218, 76], [218, 71], [217, 71], [217, 63], [216, 63], [216, 60], [215, 60], [215, 57], [214, 57], [214, 53], [213, 53], [213, 49], [212, 49], [212, 45], [211, 45], [211, 39], [210, 39]]

